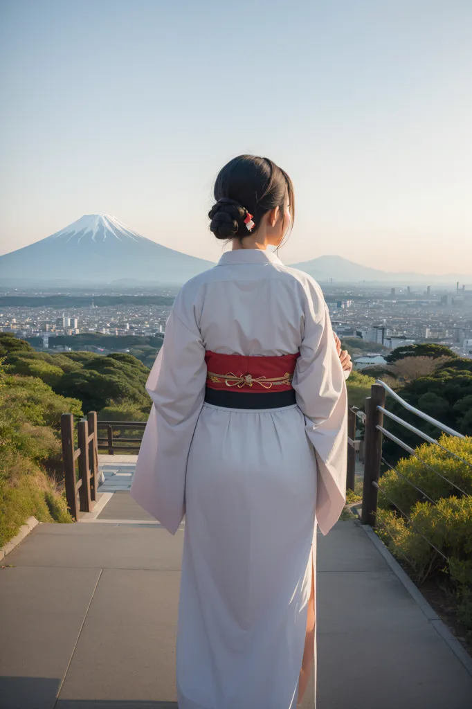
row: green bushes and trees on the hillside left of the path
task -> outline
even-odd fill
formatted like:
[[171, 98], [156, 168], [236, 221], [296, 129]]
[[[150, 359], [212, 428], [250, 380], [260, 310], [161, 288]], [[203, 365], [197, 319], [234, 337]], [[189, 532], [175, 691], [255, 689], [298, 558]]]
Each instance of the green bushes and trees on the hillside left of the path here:
[[149, 369], [130, 354], [35, 352], [0, 333], [0, 546], [33, 515], [70, 522], [64, 497], [60, 417], [146, 420]]

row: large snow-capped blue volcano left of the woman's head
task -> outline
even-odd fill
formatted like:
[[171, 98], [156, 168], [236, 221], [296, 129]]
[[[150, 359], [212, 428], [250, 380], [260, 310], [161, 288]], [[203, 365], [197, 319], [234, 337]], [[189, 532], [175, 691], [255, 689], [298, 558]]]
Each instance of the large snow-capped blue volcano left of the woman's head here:
[[116, 217], [89, 214], [45, 239], [0, 256], [0, 279], [15, 284], [183, 284], [212, 266], [210, 261], [137, 234]]

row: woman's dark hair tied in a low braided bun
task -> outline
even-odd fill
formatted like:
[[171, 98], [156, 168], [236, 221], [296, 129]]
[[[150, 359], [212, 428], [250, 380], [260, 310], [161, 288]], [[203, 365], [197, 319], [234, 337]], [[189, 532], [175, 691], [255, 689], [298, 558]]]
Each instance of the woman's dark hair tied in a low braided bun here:
[[[210, 231], [217, 239], [242, 239], [257, 232], [264, 214], [281, 208], [288, 195], [290, 213], [295, 218], [295, 195], [288, 174], [268, 157], [238, 155], [220, 169], [213, 191], [216, 203], [208, 212]], [[254, 227], [244, 223], [252, 214]], [[282, 225], [283, 231], [283, 225]]]

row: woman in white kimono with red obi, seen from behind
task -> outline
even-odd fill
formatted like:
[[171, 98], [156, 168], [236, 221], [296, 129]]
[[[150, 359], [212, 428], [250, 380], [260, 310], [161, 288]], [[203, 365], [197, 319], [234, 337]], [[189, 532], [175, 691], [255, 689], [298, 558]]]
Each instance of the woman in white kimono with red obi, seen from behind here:
[[172, 534], [186, 515], [179, 708], [293, 709], [315, 653], [317, 521], [326, 534], [344, 506], [350, 358], [320, 286], [266, 249], [293, 221], [286, 172], [241, 155], [214, 194], [210, 230], [232, 250], [176, 297], [131, 495]]

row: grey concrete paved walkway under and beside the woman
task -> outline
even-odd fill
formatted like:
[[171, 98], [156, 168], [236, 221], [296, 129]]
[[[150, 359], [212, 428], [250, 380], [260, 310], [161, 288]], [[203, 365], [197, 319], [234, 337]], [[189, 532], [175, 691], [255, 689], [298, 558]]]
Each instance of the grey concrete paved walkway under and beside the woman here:
[[[471, 674], [366, 532], [318, 539], [318, 709], [468, 709]], [[1, 709], [176, 709], [182, 541], [124, 491], [35, 527], [0, 569]]]

